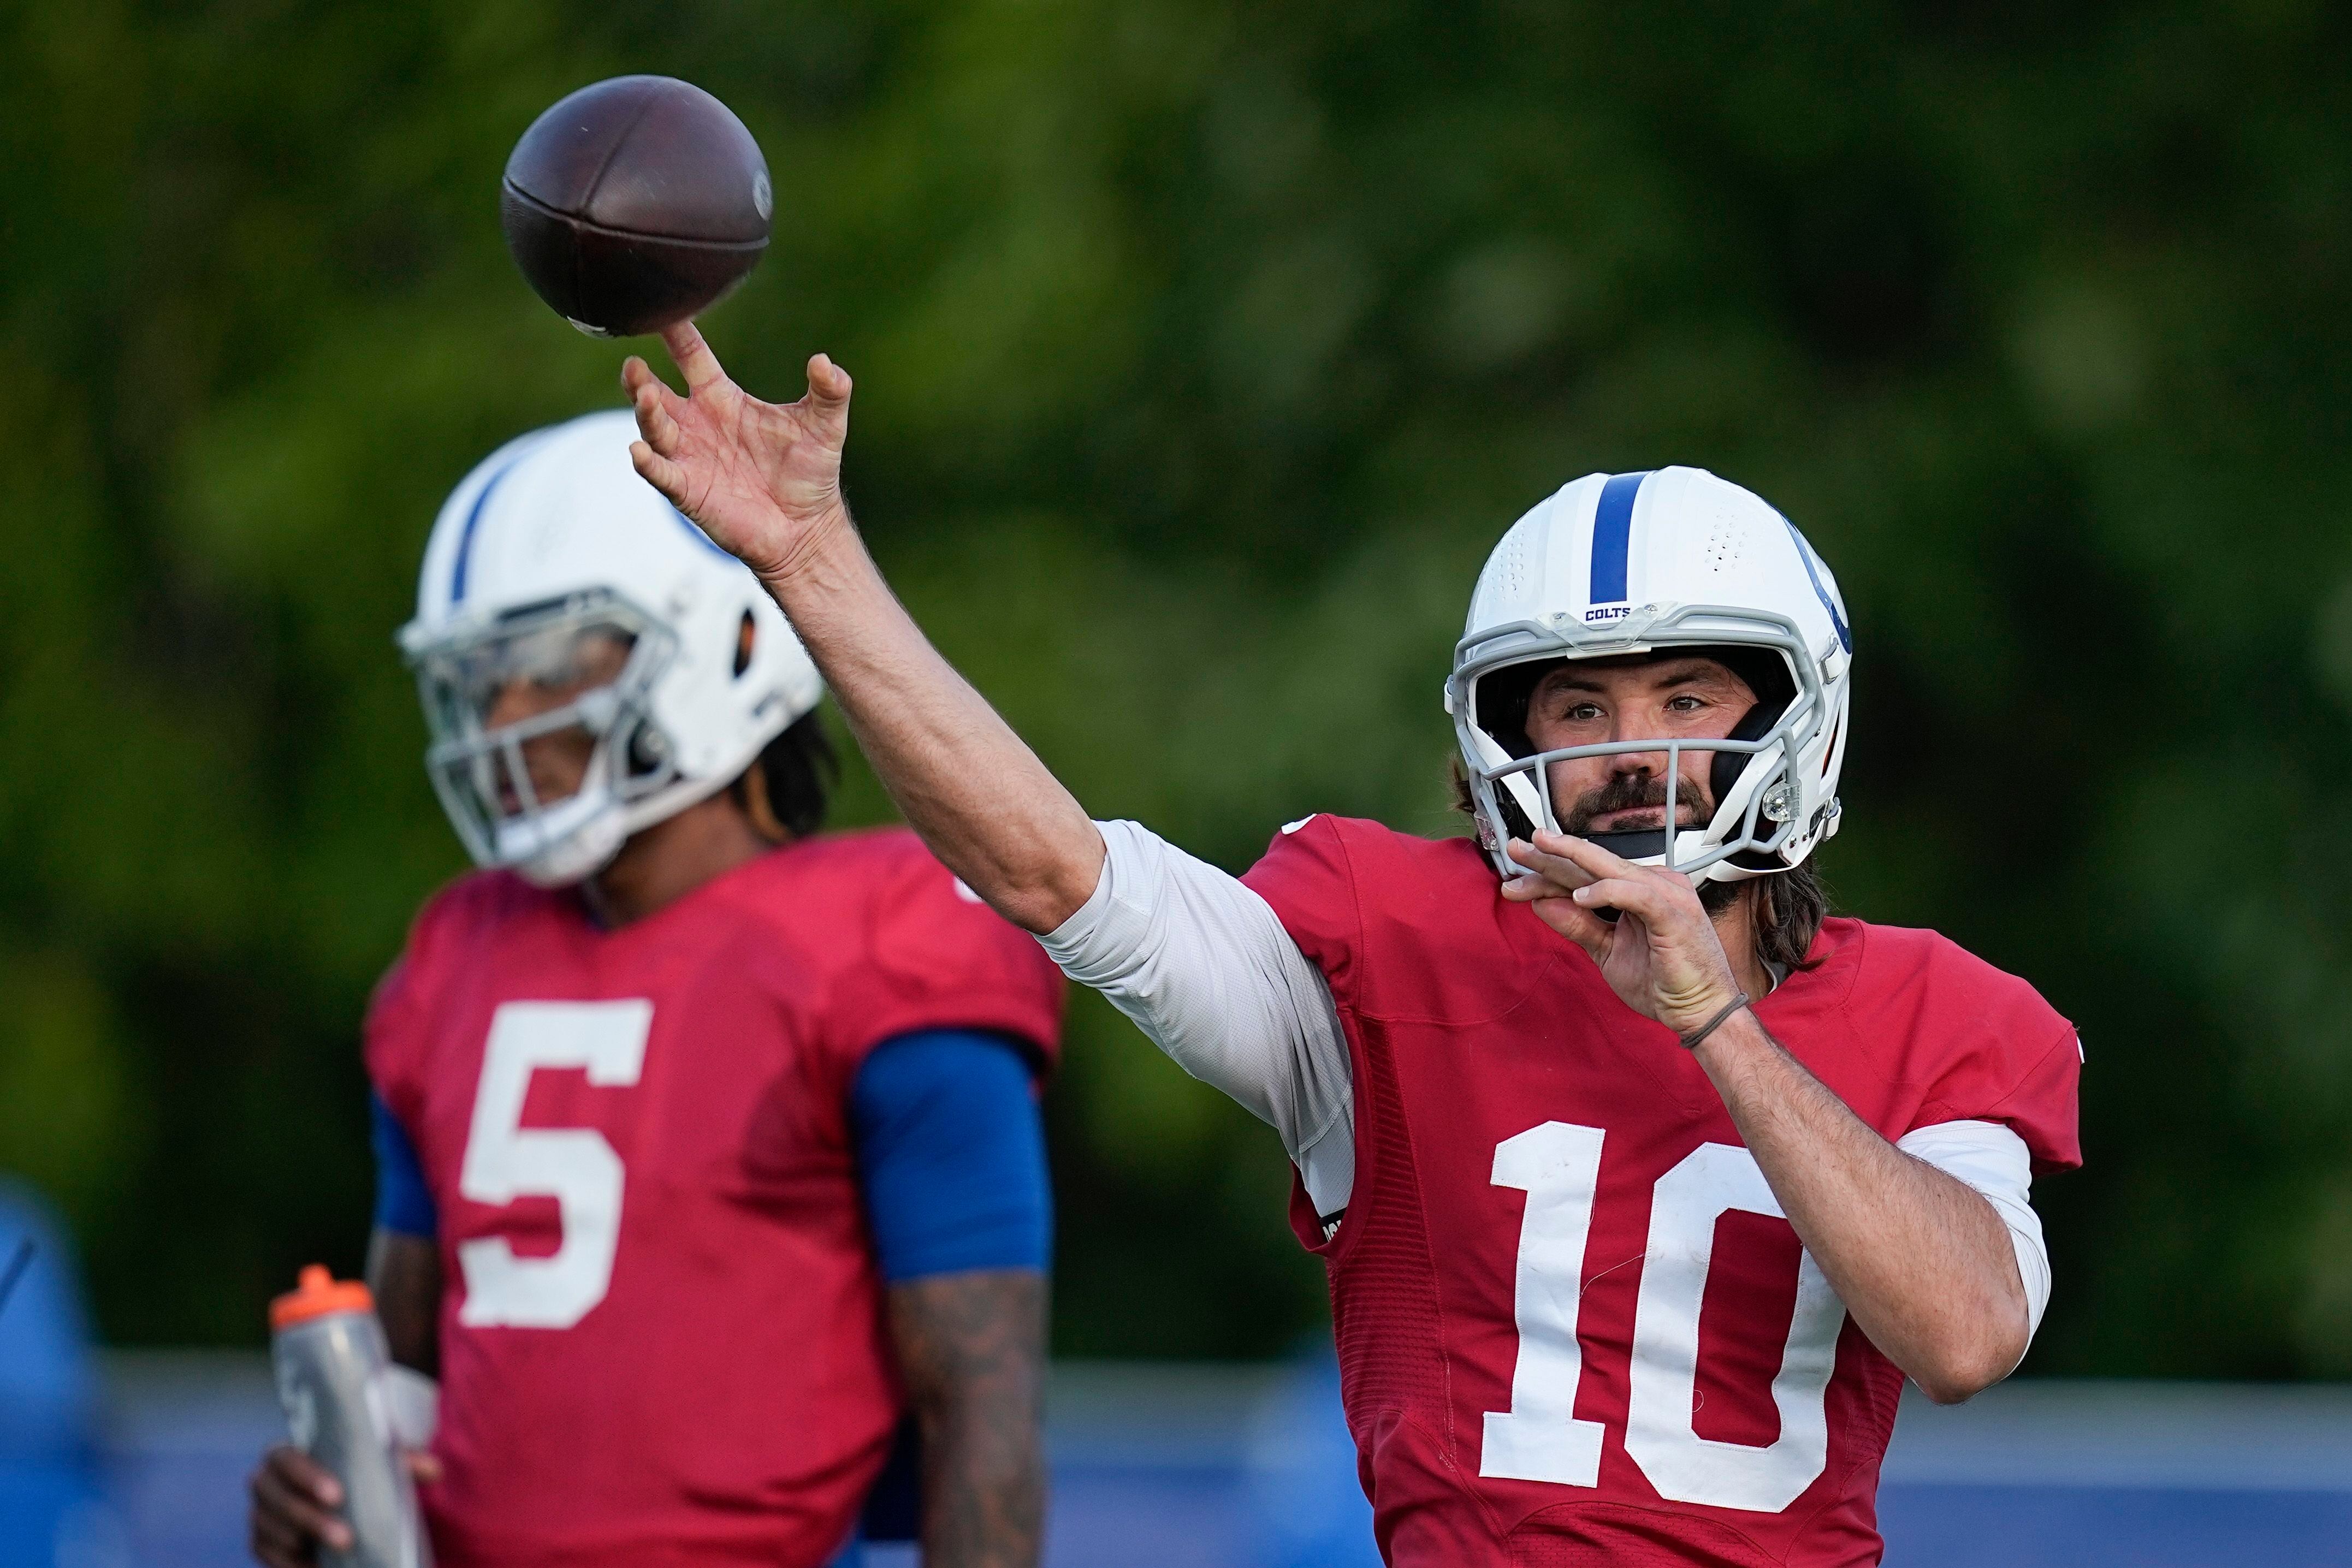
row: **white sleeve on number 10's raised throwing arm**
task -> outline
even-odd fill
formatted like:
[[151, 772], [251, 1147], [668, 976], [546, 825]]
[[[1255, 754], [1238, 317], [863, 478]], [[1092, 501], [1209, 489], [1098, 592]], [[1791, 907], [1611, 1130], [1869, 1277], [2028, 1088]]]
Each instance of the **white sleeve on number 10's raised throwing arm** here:
[[1331, 987], [1272, 907], [1136, 823], [1096, 823], [1103, 877], [1047, 954], [1202, 1084], [1272, 1124], [1317, 1215], [1355, 1185], [1355, 1070]]

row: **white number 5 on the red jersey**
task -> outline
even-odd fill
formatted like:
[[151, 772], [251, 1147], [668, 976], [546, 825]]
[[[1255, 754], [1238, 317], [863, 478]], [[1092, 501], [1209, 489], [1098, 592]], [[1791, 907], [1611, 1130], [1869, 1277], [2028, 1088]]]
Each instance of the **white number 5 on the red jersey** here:
[[517, 1258], [506, 1237], [456, 1248], [468, 1328], [569, 1328], [612, 1288], [621, 1244], [621, 1157], [595, 1128], [527, 1128], [522, 1098], [541, 1067], [586, 1070], [628, 1086], [644, 1072], [652, 1001], [506, 1001], [489, 1020], [482, 1084], [456, 1190], [475, 1204], [553, 1197], [564, 1239], [553, 1258]]

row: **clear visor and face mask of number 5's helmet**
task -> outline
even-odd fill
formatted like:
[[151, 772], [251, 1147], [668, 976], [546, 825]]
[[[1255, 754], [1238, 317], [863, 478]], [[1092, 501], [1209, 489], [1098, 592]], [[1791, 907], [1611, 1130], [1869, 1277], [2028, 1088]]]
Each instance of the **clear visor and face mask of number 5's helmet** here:
[[647, 696], [670, 635], [612, 592], [405, 637], [426, 771], [477, 865], [576, 882], [621, 846], [630, 799], [675, 776]]

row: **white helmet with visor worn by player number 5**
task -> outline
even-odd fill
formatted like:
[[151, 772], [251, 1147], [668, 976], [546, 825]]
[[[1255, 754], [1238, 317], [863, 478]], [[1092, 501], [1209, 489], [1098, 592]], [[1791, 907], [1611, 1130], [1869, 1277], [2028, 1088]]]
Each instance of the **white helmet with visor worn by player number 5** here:
[[[623, 409], [494, 451], [442, 505], [400, 630], [449, 823], [477, 865], [539, 886], [593, 875], [640, 827], [715, 795], [823, 696], [750, 569], [630, 468], [633, 440]], [[515, 682], [564, 691], [604, 670], [557, 708], [492, 724]], [[595, 743], [588, 773], [541, 799], [522, 743], [574, 726]]]

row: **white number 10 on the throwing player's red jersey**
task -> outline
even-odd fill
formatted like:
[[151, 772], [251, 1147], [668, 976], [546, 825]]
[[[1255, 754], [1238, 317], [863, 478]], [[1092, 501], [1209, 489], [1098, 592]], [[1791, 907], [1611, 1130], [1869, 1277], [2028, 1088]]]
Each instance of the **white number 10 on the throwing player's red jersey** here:
[[[1482, 1476], [1597, 1486], [1599, 1422], [1576, 1420], [1583, 1352], [1585, 1232], [1602, 1171], [1602, 1131], [1545, 1121], [1494, 1150], [1494, 1185], [1526, 1192], [1512, 1316], [1519, 1361], [1510, 1410], [1486, 1413]], [[1748, 1150], [1703, 1143], [1651, 1190], [1649, 1246], [1632, 1324], [1625, 1453], [1661, 1497], [1778, 1514], [1830, 1460], [1828, 1389], [1846, 1305], [1811, 1253], [1797, 1262], [1797, 1312], [1771, 1382], [1780, 1436], [1764, 1446], [1719, 1443], [1691, 1425], [1698, 1382], [1698, 1302], [1715, 1258], [1715, 1222], [1731, 1208], [1780, 1215]]]

